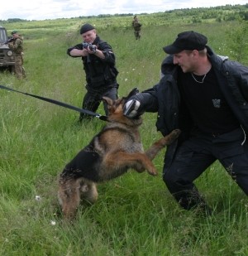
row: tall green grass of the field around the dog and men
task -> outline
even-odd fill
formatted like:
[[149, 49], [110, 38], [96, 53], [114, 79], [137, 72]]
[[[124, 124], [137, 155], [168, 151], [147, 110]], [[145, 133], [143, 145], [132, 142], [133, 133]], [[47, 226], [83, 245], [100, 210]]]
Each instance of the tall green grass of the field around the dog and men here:
[[[59, 30], [42, 29], [42, 22], [40, 27], [24, 24], [27, 80], [2, 73], [1, 85], [81, 106], [82, 61], [66, 55], [66, 49], [81, 40], [81, 22], [63, 22]], [[99, 36], [116, 53], [122, 96], [133, 87], [148, 89], [159, 81], [162, 47], [180, 31], [203, 32], [213, 50], [228, 55], [225, 31], [236, 26], [156, 24], [142, 27], [141, 41], [131, 28], [109, 26], [101, 27]], [[7, 29], [12, 28], [17, 24], [8, 24]], [[101, 184], [97, 203], [81, 207], [74, 224], [65, 223], [57, 202], [57, 176], [104, 122], [93, 118], [79, 126], [79, 114], [70, 109], [6, 90], [0, 90], [0, 97], [1, 255], [248, 255], [244, 193], [216, 162], [196, 181], [214, 214], [204, 217], [180, 209], [161, 177], [166, 149], [154, 160], [159, 176], [130, 171]], [[98, 112], [103, 114], [102, 106]], [[156, 114], [144, 114], [145, 148], [161, 136], [155, 120]]]

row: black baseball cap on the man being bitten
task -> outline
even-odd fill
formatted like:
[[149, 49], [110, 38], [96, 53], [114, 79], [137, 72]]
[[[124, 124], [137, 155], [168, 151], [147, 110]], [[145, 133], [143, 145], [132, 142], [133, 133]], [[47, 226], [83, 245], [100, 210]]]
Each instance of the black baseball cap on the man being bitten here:
[[184, 31], [179, 33], [173, 44], [163, 47], [168, 54], [176, 54], [184, 50], [202, 51], [207, 45], [207, 37], [195, 31]]

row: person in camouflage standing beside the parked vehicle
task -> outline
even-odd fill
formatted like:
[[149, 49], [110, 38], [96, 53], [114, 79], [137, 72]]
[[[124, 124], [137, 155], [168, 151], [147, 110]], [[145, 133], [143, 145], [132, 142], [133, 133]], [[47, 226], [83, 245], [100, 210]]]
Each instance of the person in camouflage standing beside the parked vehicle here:
[[8, 43], [8, 46], [14, 52], [17, 79], [26, 78], [23, 67], [23, 38], [18, 34], [18, 31], [12, 31], [12, 41]]

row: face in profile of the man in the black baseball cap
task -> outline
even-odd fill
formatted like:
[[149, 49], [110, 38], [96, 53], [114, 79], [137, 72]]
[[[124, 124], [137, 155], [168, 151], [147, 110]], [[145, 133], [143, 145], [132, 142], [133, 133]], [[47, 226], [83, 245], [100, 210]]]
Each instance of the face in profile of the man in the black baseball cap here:
[[181, 51], [174, 54], [173, 63], [179, 65], [184, 73], [193, 72], [195, 63], [193, 51]]

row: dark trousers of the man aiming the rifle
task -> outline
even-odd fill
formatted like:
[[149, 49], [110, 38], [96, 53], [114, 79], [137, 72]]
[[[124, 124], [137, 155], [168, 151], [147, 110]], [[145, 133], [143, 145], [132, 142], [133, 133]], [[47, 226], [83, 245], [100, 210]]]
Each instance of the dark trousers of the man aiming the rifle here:
[[[82, 109], [88, 109], [90, 111], [96, 112], [98, 110], [99, 105], [103, 99], [103, 96], [106, 96], [110, 99], [117, 99], [117, 87], [108, 86], [99, 89], [91, 89], [88, 88], [87, 93], [83, 97]], [[107, 115], [107, 104], [103, 104], [105, 114]], [[83, 118], [92, 118], [92, 116], [88, 114], [80, 113], [80, 120]]]

